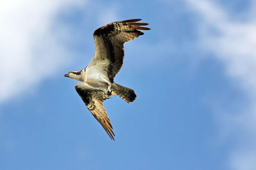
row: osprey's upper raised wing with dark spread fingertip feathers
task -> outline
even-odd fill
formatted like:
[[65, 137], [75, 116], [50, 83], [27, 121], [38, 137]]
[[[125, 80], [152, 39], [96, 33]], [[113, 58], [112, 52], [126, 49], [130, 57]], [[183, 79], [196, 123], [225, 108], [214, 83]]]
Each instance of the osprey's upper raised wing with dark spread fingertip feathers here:
[[142, 27], [148, 24], [138, 22], [140, 20], [112, 22], [93, 32], [95, 53], [90, 64], [108, 71], [109, 80], [112, 82], [123, 64], [124, 43], [144, 34], [139, 30], [149, 30], [148, 27]]

